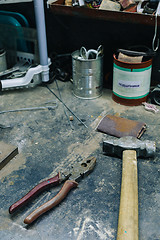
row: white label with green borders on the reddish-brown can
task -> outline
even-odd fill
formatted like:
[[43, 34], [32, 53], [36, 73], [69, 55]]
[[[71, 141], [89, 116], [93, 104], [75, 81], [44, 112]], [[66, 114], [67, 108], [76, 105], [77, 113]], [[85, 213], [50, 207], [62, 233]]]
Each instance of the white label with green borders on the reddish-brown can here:
[[148, 95], [151, 80], [151, 66], [143, 69], [127, 71], [114, 65], [113, 92], [115, 95], [127, 98], [142, 98]]

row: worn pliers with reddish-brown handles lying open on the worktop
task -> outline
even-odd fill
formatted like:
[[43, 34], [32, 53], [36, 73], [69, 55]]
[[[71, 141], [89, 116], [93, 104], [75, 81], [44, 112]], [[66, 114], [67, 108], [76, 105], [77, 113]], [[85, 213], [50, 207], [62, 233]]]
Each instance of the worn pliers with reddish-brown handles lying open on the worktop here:
[[32, 213], [30, 213], [30, 215], [28, 215], [24, 219], [25, 224], [31, 224], [43, 213], [47, 212], [51, 208], [58, 205], [67, 196], [67, 194], [72, 188], [78, 186], [79, 180], [88, 175], [93, 170], [95, 164], [96, 158], [89, 157], [81, 162], [75, 163], [73, 166], [69, 168], [69, 170], [66, 170], [65, 172], [59, 172], [56, 176], [43, 182], [40, 182], [32, 190], [30, 190], [24, 197], [22, 197], [20, 200], [12, 204], [9, 207], [9, 213], [11, 214], [16, 210], [20, 209], [22, 206], [26, 205], [30, 200], [32, 200], [43, 190], [50, 188], [52, 186], [59, 185], [62, 182], [65, 182], [61, 190], [55, 197], [53, 197], [51, 200], [47, 201], [46, 203], [35, 209]]

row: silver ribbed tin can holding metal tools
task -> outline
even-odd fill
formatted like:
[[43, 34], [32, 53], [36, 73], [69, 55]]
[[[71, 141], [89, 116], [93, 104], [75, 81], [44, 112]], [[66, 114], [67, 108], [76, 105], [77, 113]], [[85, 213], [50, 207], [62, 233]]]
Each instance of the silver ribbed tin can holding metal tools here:
[[94, 99], [102, 95], [103, 55], [94, 59], [80, 57], [80, 51], [72, 53], [73, 94], [82, 99]]

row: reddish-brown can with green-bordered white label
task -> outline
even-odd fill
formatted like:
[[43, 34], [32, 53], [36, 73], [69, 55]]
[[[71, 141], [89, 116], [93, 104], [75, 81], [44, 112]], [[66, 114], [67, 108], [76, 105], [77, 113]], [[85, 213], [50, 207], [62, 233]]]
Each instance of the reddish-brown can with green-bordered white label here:
[[113, 55], [112, 99], [126, 106], [147, 100], [150, 91], [152, 58], [141, 63], [123, 62]]

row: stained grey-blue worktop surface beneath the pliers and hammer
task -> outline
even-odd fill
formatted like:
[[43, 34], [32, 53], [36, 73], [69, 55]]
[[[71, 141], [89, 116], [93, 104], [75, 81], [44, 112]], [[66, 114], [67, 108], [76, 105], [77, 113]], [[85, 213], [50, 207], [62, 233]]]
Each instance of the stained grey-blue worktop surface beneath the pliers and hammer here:
[[[0, 140], [17, 146], [19, 151], [0, 170], [0, 239], [116, 239], [122, 161], [103, 154], [102, 142], [107, 135], [95, 130], [102, 117], [111, 114], [144, 121], [147, 130], [141, 140], [156, 141], [155, 158], [138, 159], [139, 239], [159, 240], [160, 111], [146, 111], [143, 105], [127, 107], [117, 104], [108, 89], [104, 89], [97, 99], [84, 100], [73, 95], [71, 82], [58, 81], [58, 86], [62, 100], [88, 128], [64, 108], [46, 86], [1, 93], [0, 112], [52, 108], [0, 113]], [[49, 87], [59, 96], [56, 82]], [[70, 116], [72, 121], [68, 120]], [[62, 185], [44, 191], [19, 211], [9, 214], [10, 205], [38, 183], [89, 156], [97, 159], [94, 171], [82, 179], [57, 207], [31, 225], [23, 223], [29, 213], [53, 198]]]

